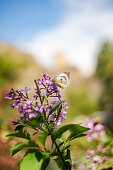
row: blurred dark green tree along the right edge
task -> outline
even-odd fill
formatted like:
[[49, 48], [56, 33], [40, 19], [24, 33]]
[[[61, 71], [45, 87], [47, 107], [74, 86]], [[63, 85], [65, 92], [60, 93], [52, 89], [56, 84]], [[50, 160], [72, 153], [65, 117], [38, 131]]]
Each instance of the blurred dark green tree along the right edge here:
[[103, 83], [100, 109], [113, 112], [113, 44], [103, 44], [97, 60], [96, 76]]

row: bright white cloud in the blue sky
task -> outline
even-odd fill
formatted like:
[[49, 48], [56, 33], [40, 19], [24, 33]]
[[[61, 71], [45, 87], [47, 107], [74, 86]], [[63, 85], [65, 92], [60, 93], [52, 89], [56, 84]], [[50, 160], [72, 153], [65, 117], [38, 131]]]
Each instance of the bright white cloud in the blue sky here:
[[95, 68], [99, 43], [113, 38], [113, 10], [105, 8], [106, 0], [66, 2], [70, 6], [60, 24], [38, 33], [25, 47], [46, 68], [54, 66], [60, 51], [71, 65], [89, 75]]

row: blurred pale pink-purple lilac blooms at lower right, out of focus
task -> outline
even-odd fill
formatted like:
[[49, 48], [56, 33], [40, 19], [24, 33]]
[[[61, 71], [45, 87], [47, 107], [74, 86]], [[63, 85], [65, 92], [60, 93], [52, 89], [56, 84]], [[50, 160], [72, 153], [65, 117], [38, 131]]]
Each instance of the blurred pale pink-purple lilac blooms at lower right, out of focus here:
[[96, 151], [88, 150], [86, 152], [86, 164], [80, 164], [79, 170], [85, 170], [86, 168], [90, 170], [96, 170], [97, 167], [102, 166], [102, 163], [107, 162], [109, 157], [106, 156], [106, 148], [103, 143], [101, 143], [101, 138], [105, 136], [104, 126], [97, 123], [95, 119], [87, 119], [84, 126], [89, 127], [90, 130], [86, 132], [88, 142], [96, 140], [99, 142]]

